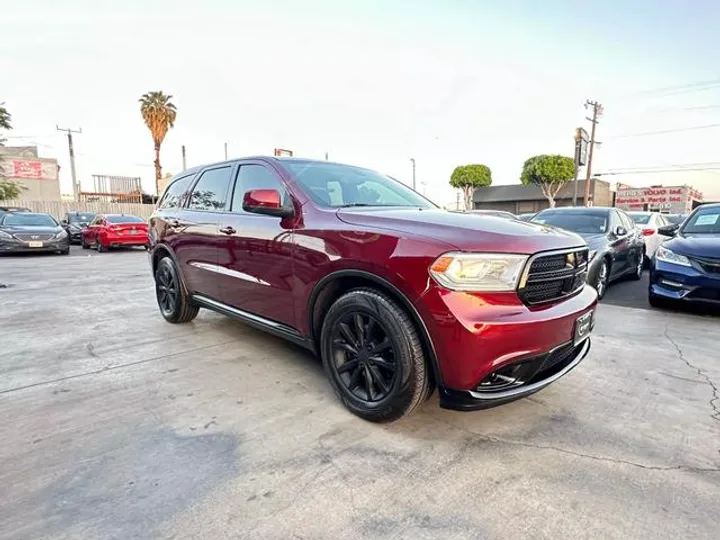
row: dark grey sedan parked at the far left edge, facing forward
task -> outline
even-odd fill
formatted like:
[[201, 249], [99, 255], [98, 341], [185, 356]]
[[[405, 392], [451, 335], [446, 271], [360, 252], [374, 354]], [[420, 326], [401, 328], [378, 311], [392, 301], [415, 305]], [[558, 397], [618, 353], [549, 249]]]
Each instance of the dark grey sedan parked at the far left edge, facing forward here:
[[0, 253], [70, 253], [65, 229], [48, 214], [18, 211], [0, 215]]

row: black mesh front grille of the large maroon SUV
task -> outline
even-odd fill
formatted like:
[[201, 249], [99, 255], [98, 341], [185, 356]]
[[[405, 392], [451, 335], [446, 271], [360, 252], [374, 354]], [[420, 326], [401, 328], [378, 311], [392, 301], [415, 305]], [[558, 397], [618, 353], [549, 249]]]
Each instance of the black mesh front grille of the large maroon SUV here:
[[539, 253], [530, 258], [518, 287], [526, 304], [542, 304], [569, 296], [585, 284], [588, 250]]

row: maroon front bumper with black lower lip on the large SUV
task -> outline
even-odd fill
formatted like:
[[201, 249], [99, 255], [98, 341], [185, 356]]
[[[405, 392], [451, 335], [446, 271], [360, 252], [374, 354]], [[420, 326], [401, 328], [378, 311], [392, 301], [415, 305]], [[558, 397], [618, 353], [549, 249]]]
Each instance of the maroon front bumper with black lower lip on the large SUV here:
[[[481, 384], [485, 384], [488, 376], [520, 364], [541, 362], [558, 347], [572, 342], [577, 319], [593, 311], [596, 305], [597, 293], [589, 286], [559, 302], [526, 306], [516, 293], [464, 293], [431, 285], [421, 297], [418, 308], [435, 349], [440, 376], [438, 386], [443, 389], [441, 396], [446, 396], [443, 401], [450, 406], [469, 400], [477, 404], [475, 408], [484, 408], [486, 400], [477, 398], [474, 393], [486, 390]], [[578, 349], [571, 353], [572, 358], [564, 358], [560, 364], [567, 361], [570, 365], [575, 360], [579, 363], [587, 350]], [[557, 377], [545, 373], [545, 379], [550, 380], [533, 386], [528, 392], [547, 386], [567, 371]], [[527, 388], [539, 382], [531, 377], [532, 373], [526, 375], [523, 384]], [[463, 399], [458, 398], [458, 392], [464, 395]], [[496, 400], [499, 401], [496, 404], [500, 404], [525, 393], [493, 395], [487, 401]], [[461, 408], [470, 407], [464, 405]]]

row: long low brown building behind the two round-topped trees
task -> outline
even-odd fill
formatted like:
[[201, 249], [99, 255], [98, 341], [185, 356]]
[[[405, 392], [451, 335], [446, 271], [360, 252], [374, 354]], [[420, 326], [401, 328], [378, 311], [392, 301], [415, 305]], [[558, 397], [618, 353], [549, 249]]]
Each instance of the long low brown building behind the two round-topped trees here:
[[[555, 195], [555, 206], [572, 206], [575, 186], [568, 182]], [[590, 195], [594, 206], [612, 206], [614, 193], [610, 184], [604, 180], [590, 181]], [[578, 181], [578, 204], [583, 204], [585, 181]], [[475, 210], [505, 210], [513, 214], [539, 212], [549, 208], [545, 195], [539, 186], [513, 184], [509, 186], [489, 186], [477, 188], [473, 194]]]

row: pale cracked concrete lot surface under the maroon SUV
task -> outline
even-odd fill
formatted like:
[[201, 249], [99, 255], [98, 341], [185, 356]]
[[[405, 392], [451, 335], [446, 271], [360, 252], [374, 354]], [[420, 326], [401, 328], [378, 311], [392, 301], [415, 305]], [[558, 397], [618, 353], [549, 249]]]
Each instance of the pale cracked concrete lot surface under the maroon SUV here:
[[718, 538], [718, 317], [609, 295], [548, 389], [374, 425], [300, 349], [164, 322], [143, 251], [0, 283], [1, 538]]

